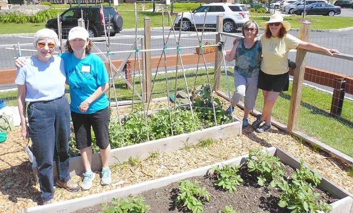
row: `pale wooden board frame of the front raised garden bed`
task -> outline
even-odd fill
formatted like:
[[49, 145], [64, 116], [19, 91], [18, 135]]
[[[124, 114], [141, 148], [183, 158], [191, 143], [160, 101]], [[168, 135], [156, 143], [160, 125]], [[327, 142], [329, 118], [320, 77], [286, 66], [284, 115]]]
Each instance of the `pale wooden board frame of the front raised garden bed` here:
[[[299, 161], [294, 159], [293, 157], [291, 157], [287, 153], [285, 153], [282, 149], [277, 148], [277, 147], [270, 147], [270, 148], [267, 148], [266, 150], [268, 150], [269, 155], [277, 156], [278, 158], [280, 158], [280, 160], [283, 164], [288, 165], [292, 168], [299, 168], [300, 167]], [[119, 197], [121, 198], [121, 197], [130, 196], [130, 195], [138, 195], [140, 193], [145, 193], [146, 191], [151, 190], [151, 189], [157, 189], [160, 187], [168, 186], [171, 183], [174, 183], [176, 181], [179, 181], [179, 180], [182, 180], [185, 178], [194, 179], [192, 177], [204, 176], [205, 174], [209, 174], [210, 169], [215, 166], [242, 165], [245, 163], [247, 157], [248, 157], [248, 155], [243, 155], [241, 157], [233, 158], [233, 159], [223, 161], [220, 163], [216, 163], [216, 164], [213, 164], [210, 166], [202, 167], [199, 169], [179, 173], [179, 174], [164, 177], [164, 178], [158, 178], [158, 179], [154, 179], [154, 180], [150, 180], [150, 181], [145, 181], [145, 182], [142, 182], [139, 184], [123, 187], [120, 189], [111, 190], [108, 192], [103, 192], [103, 193], [99, 193], [99, 194], [95, 194], [95, 195], [90, 195], [87, 197], [81, 197], [81, 198], [76, 198], [76, 199], [72, 199], [72, 200], [67, 200], [67, 201], [63, 201], [60, 203], [29, 208], [27, 210], [23, 210], [23, 213], [53, 213], [53, 212], [69, 213], [69, 212], [74, 212], [74, 211], [78, 211], [78, 210], [86, 208], [86, 207], [93, 207], [95, 205], [109, 202], [112, 198], [119, 198]], [[254, 187], [254, 186], [246, 185], [246, 187]], [[322, 177], [321, 183], [319, 184], [319, 187], [321, 190], [328, 192], [330, 194], [330, 196], [332, 197], [332, 199], [336, 199], [336, 200], [333, 200], [335, 202], [330, 204], [332, 206], [331, 213], [353, 213], [353, 197], [351, 194], [349, 194], [345, 190], [341, 189], [340, 187], [336, 186], [335, 184], [333, 184], [331, 181], [329, 181], [328, 179], [326, 179], [324, 177]], [[255, 188], [258, 188], [258, 187], [255, 187]], [[271, 192], [271, 191], [269, 191], [269, 192]], [[230, 193], [230, 192], [226, 192], [226, 193]], [[237, 192], [235, 192], [235, 193], [237, 193]], [[156, 194], [154, 194], [154, 196], [158, 197], [158, 195], [156, 195]], [[245, 200], [248, 200], [248, 199], [250, 199], [250, 198], [246, 198]], [[264, 199], [265, 200], [263, 200], [263, 201], [266, 202], [265, 197], [264, 197]], [[171, 200], [171, 202], [172, 202], [172, 200]], [[146, 204], [148, 204], [148, 203], [146, 203]], [[259, 205], [259, 204], [256, 204], [256, 205]], [[236, 208], [236, 206], [233, 206], [233, 207]], [[90, 211], [92, 211], [92, 209]], [[87, 210], [82, 210], [82, 211], [87, 211]], [[171, 210], [171, 211], [173, 211], [173, 210]], [[212, 211], [214, 212], [214, 210], [212, 210]], [[208, 211], [205, 209], [205, 213], [212, 212], [212, 211]], [[169, 210], [164, 209], [164, 211], [162, 210], [162, 212], [169, 212]], [[290, 211], [287, 210], [284, 212], [290, 212]]]

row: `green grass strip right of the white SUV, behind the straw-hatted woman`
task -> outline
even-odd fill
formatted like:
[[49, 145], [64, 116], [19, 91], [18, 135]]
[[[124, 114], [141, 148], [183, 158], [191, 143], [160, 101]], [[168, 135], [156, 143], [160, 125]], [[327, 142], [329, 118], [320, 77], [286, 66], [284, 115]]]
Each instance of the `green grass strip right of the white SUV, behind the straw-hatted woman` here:
[[[261, 22], [269, 20], [267, 17], [250, 17], [250, 19], [256, 21], [260, 27]], [[299, 28], [300, 22], [303, 21], [302, 16], [298, 15], [284, 17], [284, 20], [288, 21], [292, 28]], [[306, 20], [311, 23], [312, 29], [340, 29], [353, 26], [353, 17], [307, 16]]]

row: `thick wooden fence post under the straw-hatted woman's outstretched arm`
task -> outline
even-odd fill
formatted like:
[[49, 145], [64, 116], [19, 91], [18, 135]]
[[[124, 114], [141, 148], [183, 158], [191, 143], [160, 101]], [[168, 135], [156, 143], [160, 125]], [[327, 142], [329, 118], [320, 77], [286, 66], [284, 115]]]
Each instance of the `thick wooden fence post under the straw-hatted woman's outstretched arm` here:
[[[310, 35], [310, 25], [311, 23], [305, 20], [300, 23], [298, 38], [302, 41], [308, 41]], [[294, 70], [293, 75], [293, 85], [292, 85], [292, 95], [290, 99], [289, 106], [289, 116], [287, 124], [287, 132], [292, 133], [298, 127], [299, 118], [299, 108], [302, 98], [302, 87], [305, 74], [305, 60], [306, 51], [303, 49], [297, 49], [297, 54], [295, 58], [295, 63], [297, 67]]]

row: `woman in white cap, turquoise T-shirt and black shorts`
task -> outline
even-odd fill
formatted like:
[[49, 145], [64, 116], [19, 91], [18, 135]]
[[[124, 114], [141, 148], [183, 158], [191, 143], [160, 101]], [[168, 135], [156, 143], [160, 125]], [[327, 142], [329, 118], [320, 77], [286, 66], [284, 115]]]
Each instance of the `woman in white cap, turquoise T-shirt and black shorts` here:
[[103, 164], [101, 184], [108, 185], [111, 182], [108, 167], [110, 111], [105, 94], [109, 89], [108, 75], [103, 60], [91, 53], [92, 41], [84, 28], [74, 27], [70, 30], [66, 48], [67, 52], [63, 53], [61, 58], [65, 62], [66, 78], [70, 85], [70, 108], [76, 146], [80, 149], [85, 168], [81, 188], [88, 190], [95, 178], [95, 173], [91, 170], [91, 127], [100, 148]]

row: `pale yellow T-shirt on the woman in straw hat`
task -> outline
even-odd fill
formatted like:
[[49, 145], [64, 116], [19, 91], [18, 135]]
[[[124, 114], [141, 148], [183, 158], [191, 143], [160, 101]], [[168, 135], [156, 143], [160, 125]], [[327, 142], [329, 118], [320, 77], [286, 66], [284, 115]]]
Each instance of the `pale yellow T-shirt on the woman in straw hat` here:
[[260, 37], [262, 45], [261, 71], [267, 74], [283, 74], [289, 71], [287, 55], [290, 49], [295, 49], [301, 42], [299, 38], [286, 34], [282, 38]]

